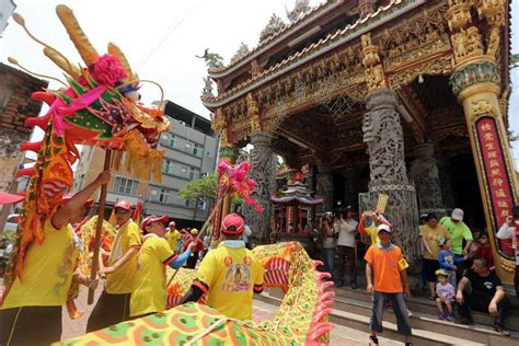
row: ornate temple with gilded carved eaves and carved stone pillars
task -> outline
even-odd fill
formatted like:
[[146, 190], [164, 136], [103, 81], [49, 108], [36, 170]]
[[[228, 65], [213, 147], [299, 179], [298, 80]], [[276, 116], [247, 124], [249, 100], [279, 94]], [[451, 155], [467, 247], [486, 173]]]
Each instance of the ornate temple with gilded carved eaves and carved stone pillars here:
[[[205, 93], [220, 155], [251, 143], [254, 229], [268, 231], [273, 154], [310, 164], [324, 210], [338, 203], [388, 218], [411, 257], [418, 215], [465, 211], [486, 229], [501, 278], [515, 268], [495, 233], [517, 203], [508, 140], [510, 2], [495, 0], [297, 1], [273, 15], [260, 43], [208, 70]], [[223, 210], [223, 214], [227, 210]]]

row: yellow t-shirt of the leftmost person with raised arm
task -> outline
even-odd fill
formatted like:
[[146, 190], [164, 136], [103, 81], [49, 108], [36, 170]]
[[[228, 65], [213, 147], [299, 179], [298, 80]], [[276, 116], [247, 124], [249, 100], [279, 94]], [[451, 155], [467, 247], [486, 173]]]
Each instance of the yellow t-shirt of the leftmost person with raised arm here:
[[74, 238], [70, 223], [57, 230], [50, 218], [44, 224], [44, 234], [42, 244], [35, 241], [28, 247], [22, 281], [16, 277], [0, 309], [66, 303], [78, 260], [79, 240]]

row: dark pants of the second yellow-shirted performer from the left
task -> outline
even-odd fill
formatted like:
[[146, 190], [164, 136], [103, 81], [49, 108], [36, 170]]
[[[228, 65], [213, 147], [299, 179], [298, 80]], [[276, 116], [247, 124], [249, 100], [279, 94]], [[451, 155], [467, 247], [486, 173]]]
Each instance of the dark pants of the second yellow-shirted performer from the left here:
[[131, 293], [111, 295], [103, 290], [90, 314], [86, 333], [128, 321], [130, 296]]

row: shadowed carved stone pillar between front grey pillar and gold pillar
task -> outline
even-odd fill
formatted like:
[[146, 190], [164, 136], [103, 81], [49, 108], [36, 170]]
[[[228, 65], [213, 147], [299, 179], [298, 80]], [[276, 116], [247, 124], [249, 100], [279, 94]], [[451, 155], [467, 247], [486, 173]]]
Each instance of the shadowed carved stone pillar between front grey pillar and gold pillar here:
[[447, 211], [441, 197], [438, 165], [434, 157], [435, 145], [431, 142], [417, 145], [414, 152], [416, 159], [411, 165], [410, 180], [415, 183], [419, 211], [434, 212], [438, 217], [445, 216]]

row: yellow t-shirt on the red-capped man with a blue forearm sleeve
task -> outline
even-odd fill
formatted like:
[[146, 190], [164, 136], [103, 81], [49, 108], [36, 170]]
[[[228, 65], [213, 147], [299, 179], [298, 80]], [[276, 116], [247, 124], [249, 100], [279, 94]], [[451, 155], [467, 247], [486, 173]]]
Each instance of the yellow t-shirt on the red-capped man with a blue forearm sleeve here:
[[146, 239], [137, 261], [131, 316], [165, 310], [165, 266], [175, 258], [175, 252], [165, 239], [155, 235]]

